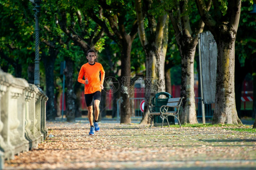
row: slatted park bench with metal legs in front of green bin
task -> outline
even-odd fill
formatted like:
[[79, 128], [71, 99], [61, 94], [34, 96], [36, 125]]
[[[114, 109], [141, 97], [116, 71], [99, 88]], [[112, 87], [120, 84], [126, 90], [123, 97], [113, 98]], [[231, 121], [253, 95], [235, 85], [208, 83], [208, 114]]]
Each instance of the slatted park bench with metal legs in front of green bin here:
[[164, 125], [164, 119], [167, 120], [168, 126], [169, 126], [169, 121], [168, 121], [168, 116], [174, 116], [178, 122], [179, 122], [179, 127], [181, 127], [180, 121], [179, 121], [179, 108], [182, 103], [184, 97], [178, 97], [178, 98], [169, 98], [168, 102], [166, 105], [161, 105], [159, 110], [156, 110], [155, 106], [150, 107], [150, 113], [149, 117], [151, 118], [151, 126], [152, 126], [152, 121], [154, 120], [155, 116], [160, 116], [162, 119], [162, 127]]

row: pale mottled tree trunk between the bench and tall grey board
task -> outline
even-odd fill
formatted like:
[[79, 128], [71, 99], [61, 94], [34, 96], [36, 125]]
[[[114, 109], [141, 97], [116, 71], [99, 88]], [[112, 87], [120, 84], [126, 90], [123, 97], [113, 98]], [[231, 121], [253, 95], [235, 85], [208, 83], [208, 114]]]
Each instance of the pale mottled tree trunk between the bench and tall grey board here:
[[[190, 47], [189, 47], [190, 46]], [[182, 124], [198, 123], [195, 111], [194, 91], [194, 58], [196, 46], [193, 43], [184, 45], [181, 54], [181, 90], [180, 96], [184, 97], [180, 110]]]

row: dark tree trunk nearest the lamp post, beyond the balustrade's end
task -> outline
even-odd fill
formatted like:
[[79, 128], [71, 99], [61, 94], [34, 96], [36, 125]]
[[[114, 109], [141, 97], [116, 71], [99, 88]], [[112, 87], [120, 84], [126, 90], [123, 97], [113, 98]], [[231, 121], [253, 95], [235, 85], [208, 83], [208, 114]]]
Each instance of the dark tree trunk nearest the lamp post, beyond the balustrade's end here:
[[59, 50], [54, 48], [49, 48], [49, 55], [45, 55], [43, 53], [42, 60], [45, 67], [45, 74], [46, 74], [46, 95], [48, 97], [48, 101], [46, 104], [46, 119], [47, 120], [55, 120], [56, 115], [56, 107], [55, 107], [55, 97], [54, 97], [54, 63], [56, 57], [59, 53]]

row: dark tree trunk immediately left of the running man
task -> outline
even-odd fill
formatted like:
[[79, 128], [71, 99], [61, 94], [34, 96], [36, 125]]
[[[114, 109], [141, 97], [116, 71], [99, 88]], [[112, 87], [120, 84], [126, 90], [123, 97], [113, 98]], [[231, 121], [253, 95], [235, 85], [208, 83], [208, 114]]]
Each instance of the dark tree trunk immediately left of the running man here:
[[75, 112], [76, 112], [76, 106], [75, 106], [75, 100], [76, 100], [76, 94], [73, 90], [73, 64], [74, 61], [71, 60], [71, 58], [66, 58], [66, 69], [64, 70], [64, 74], [66, 76], [66, 87], [67, 87], [67, 98], [66, 98], [66, 115], [67, 115], [67, 121], [72, 122], [75, 120]]

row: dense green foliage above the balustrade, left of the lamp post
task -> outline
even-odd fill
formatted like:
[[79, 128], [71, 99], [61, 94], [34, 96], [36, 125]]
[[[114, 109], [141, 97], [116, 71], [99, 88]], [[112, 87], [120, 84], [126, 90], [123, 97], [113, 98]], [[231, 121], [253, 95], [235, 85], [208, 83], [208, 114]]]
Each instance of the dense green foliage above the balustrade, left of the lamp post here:
[[[15, 68], [26, 69], [34, 58], [32, 5], [25, 0], [0, 1], [0, 66], [13, 75], [20, 75]], [[22, 71], [21, 77], [27, 72]]]

